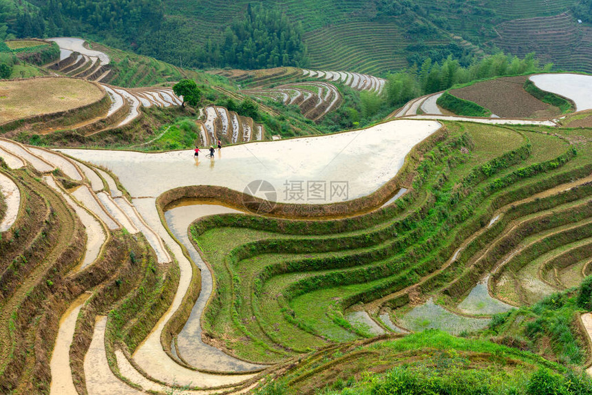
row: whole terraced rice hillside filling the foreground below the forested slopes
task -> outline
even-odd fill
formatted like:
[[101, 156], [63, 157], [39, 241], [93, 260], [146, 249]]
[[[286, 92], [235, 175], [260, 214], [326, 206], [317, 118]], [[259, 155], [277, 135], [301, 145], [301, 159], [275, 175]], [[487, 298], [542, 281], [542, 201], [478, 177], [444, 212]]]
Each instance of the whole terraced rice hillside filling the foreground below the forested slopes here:
[[[531, 78], [580, 87], [564, 120], [444, 116], [431, 94], [366, 129], [231, 145], [268, 131], [209, 105], [148, 141], [223, 140], [207, 159], [0, 138], [0, 392], [592, 388], [573, 373], [592, 354], [592, 129], [560, 126], [589, 116], [590, 79]], [[116, 139], [133, 109], [180, 109], [165, 87], [10, 83], [46, 80], [95, 95], [4, 136]], [[276, 89], [314, 84], [332, 86]]]

